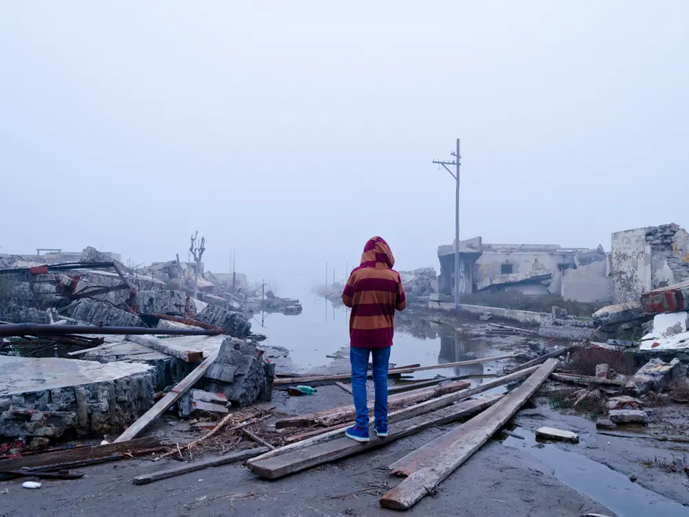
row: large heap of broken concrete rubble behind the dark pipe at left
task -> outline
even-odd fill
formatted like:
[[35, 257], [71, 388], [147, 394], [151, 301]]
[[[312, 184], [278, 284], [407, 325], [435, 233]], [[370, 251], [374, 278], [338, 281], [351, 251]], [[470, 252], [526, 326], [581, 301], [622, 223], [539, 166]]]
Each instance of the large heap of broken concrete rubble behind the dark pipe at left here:
[[[218, 297], [220, 311], [209, 314], [203, 311], [207, 304], [192, 298], [183, 281], [176, 283], [178, 289], [169, 289], [173, 279], [184, 276], [177, 261], [134, 271], [94, 247], [86, 247], [76, 263], [37, 264], [27, 258], [1, 259], [3, 321], [156, 327], [172, 317], [179, 323], [194, 325], [198, 321], [222, 327], [231, 336], [248, 336], [251, 329], [250, 315], [243, 305], [234, 303], [234, 299], [243, 301], [243, 295], [233, 301]], [[226, 307], [236, 310], [230, 314]]]

